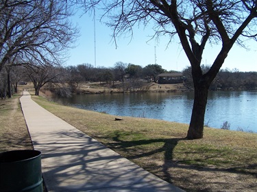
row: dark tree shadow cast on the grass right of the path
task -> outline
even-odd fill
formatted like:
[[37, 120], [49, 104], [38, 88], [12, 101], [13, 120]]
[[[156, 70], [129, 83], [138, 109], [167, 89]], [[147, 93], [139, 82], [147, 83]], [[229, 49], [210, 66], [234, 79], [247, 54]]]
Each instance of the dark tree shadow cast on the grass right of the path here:
[[[241, 174], [245, 176], [254, 176], [257, 178], [257, 165], [245, 165], [245, 166], [238, 166], [238, 167], [223, 167], [223, 168], [217, 168], [215, 166], [200, 166], [200, 165], [190, 165], [186, 163], [185, 160], [178, 160], [175, 159], [174, 156], [174, 149], [178, 145], [180, 141], [187, 140], [186, 138], [171, 138], [171, 139], [139, 139], [139, 140], [131, 140], [131, 141], [124, 141], [122, 138], [124, 135], [121, 135], [119, 132], [112, 137], [113, 141], [112, 143], [107, 143], [108, 147], [112, 148], [113, 150], [121, 150], [123, 152], [126, 152], [128, 155], [126, 156], [127, 159], [130, 160], [136, 160], [140, 158], [145, 158], [147, 156], [154, 156], [155, 154], [158, 153], [163, 153], [163, 159], [162, 159], [162, 165], [149, 165], [149, 167], [144, 167], [145, 169], [149, 170], [152, 173], [156, 173], [158, 176], [161, 175], [162, 179], [167, 180], [170, 183], [174, 183], [174, 180], [184, 180], [184, 184], [186, 182], [191, 182], [191, 185], [193, 188], [195, 187], [196, 191], [201, 191], [201, 187], [197, 188], [197, 185], [201, 185], [199, 178], [201, 177], [201, 174], [204, 175], [206, 173], [212, 173], [212, 174]], [[134, 146], [144, 146], [144, 145], [150, 145], [154, 144], [158, 145], [159, 147], [154, 147], [154, 148], [146, 148], [147, 150], [140, 150], [139, 152], [136, 152], [134, 150]], [[162, 144], [160, 144], [162, 143]], [[155, 146], [156, 146], [155, 145]], [[140, 148], [140, 147], [139, 147]], [[134, 150], [134, 151], [133, 151]], [[185, 152], [186, 153], [186, 152]], [[188, 150], [188, 153], [196, 153], [196, 152], [191, 152]], [[204, 154], [203, 154], [204, 155]], [[205, 159], [212, 159], [212, 158], [219, 158], [222, 156], [222, 153], [217, 152], [217, 154], [214, 154], [212, 156], [206, 156]], [[149, 160], [151, 161], [151, 159]], [[195, 160], [197, 161], [197, 160]], [[148, 166], [148, 165], [147, 165]], [[171, 171], [172, 169], [180, 169], [182, 172], [187, 170], [188, 175], [184, 175], [183, 178], [180, 178], [176, 175], [175, 172]], [[162, 173], [160, 173], [162, 172]], [[193, 172], [197, 172], [199, 174], [199, 178], [196, 177]], [[195, 177], [195, 183], [192, 182], [193, 178]], [[211, 178], [210, 178], [211, 179]], [[225, 184], [229, 185], [229, 182], [226, 183], [226, 180], [223, 180]], [[223, 183], [223, 184], [224, 184]], [[186, 191], [189, 190], [191, 191], [193, 188], [188, 187], [184, 188], [185, 185], [179, 186], [178, 187], [185, 189]], [[204, 189], [204, 191], [211, 191], [207, 189], [207, 187]]]

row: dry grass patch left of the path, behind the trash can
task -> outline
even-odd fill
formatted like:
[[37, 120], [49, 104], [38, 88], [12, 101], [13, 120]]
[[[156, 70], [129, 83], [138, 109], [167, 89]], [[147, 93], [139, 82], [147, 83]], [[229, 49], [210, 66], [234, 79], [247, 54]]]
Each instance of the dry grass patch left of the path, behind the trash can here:
[[20, 96], [0, 100], [0, 152], [33, 149], [19, 103]]

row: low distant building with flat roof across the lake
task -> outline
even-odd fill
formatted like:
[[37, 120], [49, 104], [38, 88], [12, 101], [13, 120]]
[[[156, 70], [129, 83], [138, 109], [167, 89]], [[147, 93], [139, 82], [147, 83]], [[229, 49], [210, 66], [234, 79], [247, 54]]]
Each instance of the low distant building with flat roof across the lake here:
[[181, 72], [161, 73], [161, 74], [158, 74], [156, 82], [159, 84], [184, 83], [184, 76]]

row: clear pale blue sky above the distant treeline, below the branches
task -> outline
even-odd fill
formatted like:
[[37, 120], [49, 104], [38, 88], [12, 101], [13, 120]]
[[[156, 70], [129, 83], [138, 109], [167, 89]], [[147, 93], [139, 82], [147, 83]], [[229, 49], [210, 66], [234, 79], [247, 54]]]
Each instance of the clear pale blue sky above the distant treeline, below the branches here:
[[[72, 20], [80, 28], [80, 36], [75, 44], [76, 47], [70, 50], [70, 57], [66, 61], [66, 65], [77, 66], [88, 63], [95, 66], [93, 17], [88, 14], [83, 16], [76, 14]], [[178, 38], [175, 38], [167, 47], [169, 38], [162, 36], [156, 43], [156, 40], [150, 40], [150, 36], [153, 34], [154, 31], [151, 28], [144, 29], [142, 26], [139, 29], [134, 29], [133, 38], [121, 36], [117, 39], [118, 47], [116, 48], [112, 40], [112, 30], [100, 23], [97, 18], [96, 66], [112, 67], [117, 61], [142, 67], [155, 64], [156, 61], [156, 64], [167, 70], [183, 70], [190, 66]], [[230, 70], [237, 68], [243, 72], [257, 71], [257, 43], [253, 40], [248, 41], [247, 47], [250, 49], [249, 51], [235, 44], [222, 68], [229, 68]], [[202, 64], [212, 64], [217, 53], [219, 53], [217, 46], [207, 46]]]

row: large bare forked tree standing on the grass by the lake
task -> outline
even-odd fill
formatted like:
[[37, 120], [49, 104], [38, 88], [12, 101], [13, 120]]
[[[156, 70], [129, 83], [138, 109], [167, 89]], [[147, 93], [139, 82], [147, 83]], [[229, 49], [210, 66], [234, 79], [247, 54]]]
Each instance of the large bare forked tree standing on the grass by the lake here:
[[[77, 0], [79, 1], [79, 0]], [[117, 0], [79, 1], [86, 11], [102, 8], [110, 18], [113, 37], [132, 33], [135, 25], [154, 21], [155, 35], [178, 35], [192, 67], [195, 99], [187, 138], [204, 135], [204, 115], [210, 83], [215, 79], [230, 49], [247, 38], [256, 40], [257, 1], [247, 0]], [[86, 2], [86, 3], [85, 3]], [[206, 44], [221, 43], [220, 52], [208, 72], [201, 69]]]

